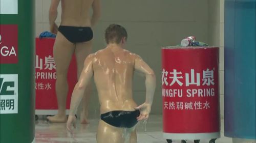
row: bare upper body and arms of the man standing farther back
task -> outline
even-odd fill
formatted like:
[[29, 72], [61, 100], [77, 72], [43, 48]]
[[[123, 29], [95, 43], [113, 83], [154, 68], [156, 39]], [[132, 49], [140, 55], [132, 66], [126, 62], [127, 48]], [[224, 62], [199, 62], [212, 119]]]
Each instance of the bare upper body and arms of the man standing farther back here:
[[[61, 23], [65, 26], [91, 27], [96, 24], [100, 17], [100, 0], [52, 0], [49, 10], [50, 31], [57, 34], [58, 26], [57, 7], [61, 2]], [[93, 15], [90, 16], [90, 8]]]

